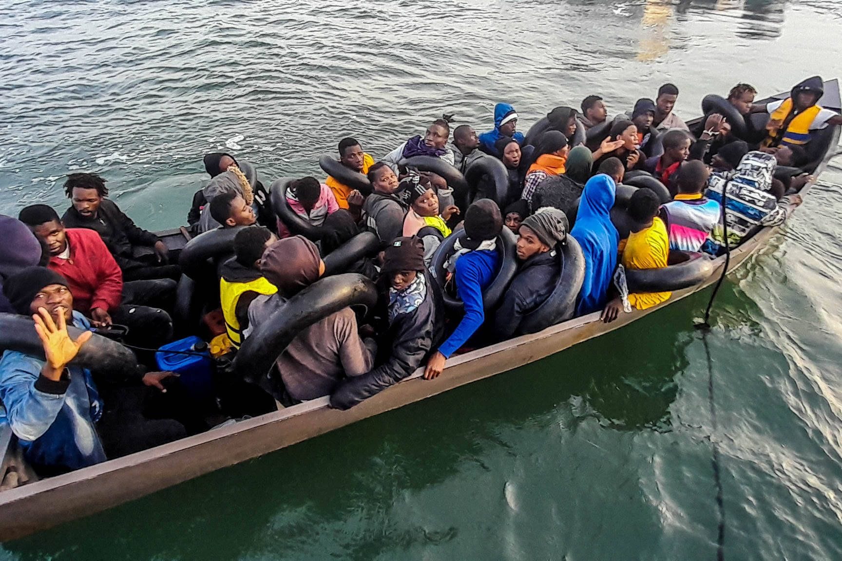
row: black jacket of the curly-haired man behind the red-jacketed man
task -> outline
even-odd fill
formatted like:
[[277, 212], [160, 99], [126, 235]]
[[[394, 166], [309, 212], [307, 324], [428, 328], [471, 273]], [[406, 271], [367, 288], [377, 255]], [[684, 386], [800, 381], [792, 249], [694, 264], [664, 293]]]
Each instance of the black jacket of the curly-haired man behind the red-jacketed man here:
[[[61, 218], [67, 228], [88, 228], [94, 230], [108, 246], [111, 255], [130, 259], [134, 246], [154, 246], [158, 237], [143, 230], [109, 198], [99, 204], [96, 217], [79, 214], [73, 207], [67, 209]], [[118, 260], [119, 262], [119, 260]]]

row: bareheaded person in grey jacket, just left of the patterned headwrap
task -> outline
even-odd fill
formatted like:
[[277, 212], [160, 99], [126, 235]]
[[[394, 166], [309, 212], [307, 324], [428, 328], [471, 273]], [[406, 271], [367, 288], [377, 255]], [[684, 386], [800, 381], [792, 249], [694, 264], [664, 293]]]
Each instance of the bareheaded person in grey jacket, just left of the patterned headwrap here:
[[408, 206], [396, 193], [400, 183], [385, 161], [378, 161], [368, 172], [373, 192], [365, 198], [362, 224], [374, 232], [384, 244], [401, 235], [403, 216]]

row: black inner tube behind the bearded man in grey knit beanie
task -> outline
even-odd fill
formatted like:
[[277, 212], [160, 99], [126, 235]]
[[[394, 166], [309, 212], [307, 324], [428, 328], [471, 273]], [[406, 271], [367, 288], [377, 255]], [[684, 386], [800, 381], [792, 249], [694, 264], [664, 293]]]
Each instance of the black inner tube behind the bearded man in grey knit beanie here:
[[558, 275], [556, 288], [536, 310], [525, 315], [520, 321], [520, 333], [537, 333], [551, 325], [569, 320], [576, 312], [576, 299], [584, 282], [584, 255], [573, 236], [558, 247], [558, 261], [561, 273]]

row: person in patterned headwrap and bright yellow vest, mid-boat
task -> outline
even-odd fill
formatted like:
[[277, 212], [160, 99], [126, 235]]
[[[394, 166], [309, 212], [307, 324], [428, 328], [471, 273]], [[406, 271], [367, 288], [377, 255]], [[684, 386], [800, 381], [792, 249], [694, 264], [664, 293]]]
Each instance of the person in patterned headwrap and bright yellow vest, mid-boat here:
[[450, 236], [447, 220], [459, 214], [456, 204], [439, 214], [439, 197], [429, 179], [418, 175], [404, 177], [401, 191], [406, 193], [409, 210], [403, 219], [403, 237], [418, 236], [424, 243], [424, 262], [429, 265], [435, 249]]

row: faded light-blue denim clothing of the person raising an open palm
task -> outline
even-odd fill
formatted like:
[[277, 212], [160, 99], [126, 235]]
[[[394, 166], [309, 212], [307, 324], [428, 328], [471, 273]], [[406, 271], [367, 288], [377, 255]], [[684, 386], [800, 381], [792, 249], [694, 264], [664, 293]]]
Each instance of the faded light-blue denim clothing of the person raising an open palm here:
[[[75, 311], [73, 325], [90, 327]], [[25, 457], [30, 463], [67, 469], [104, 462], [94, 426], [102, 401], [91, 373], [69, 367], [69, 378], [54, 382], [40, 375], [43, 366], [40, 358], [17, 351], [4, 352], [0, 359], [0, 400]]]

